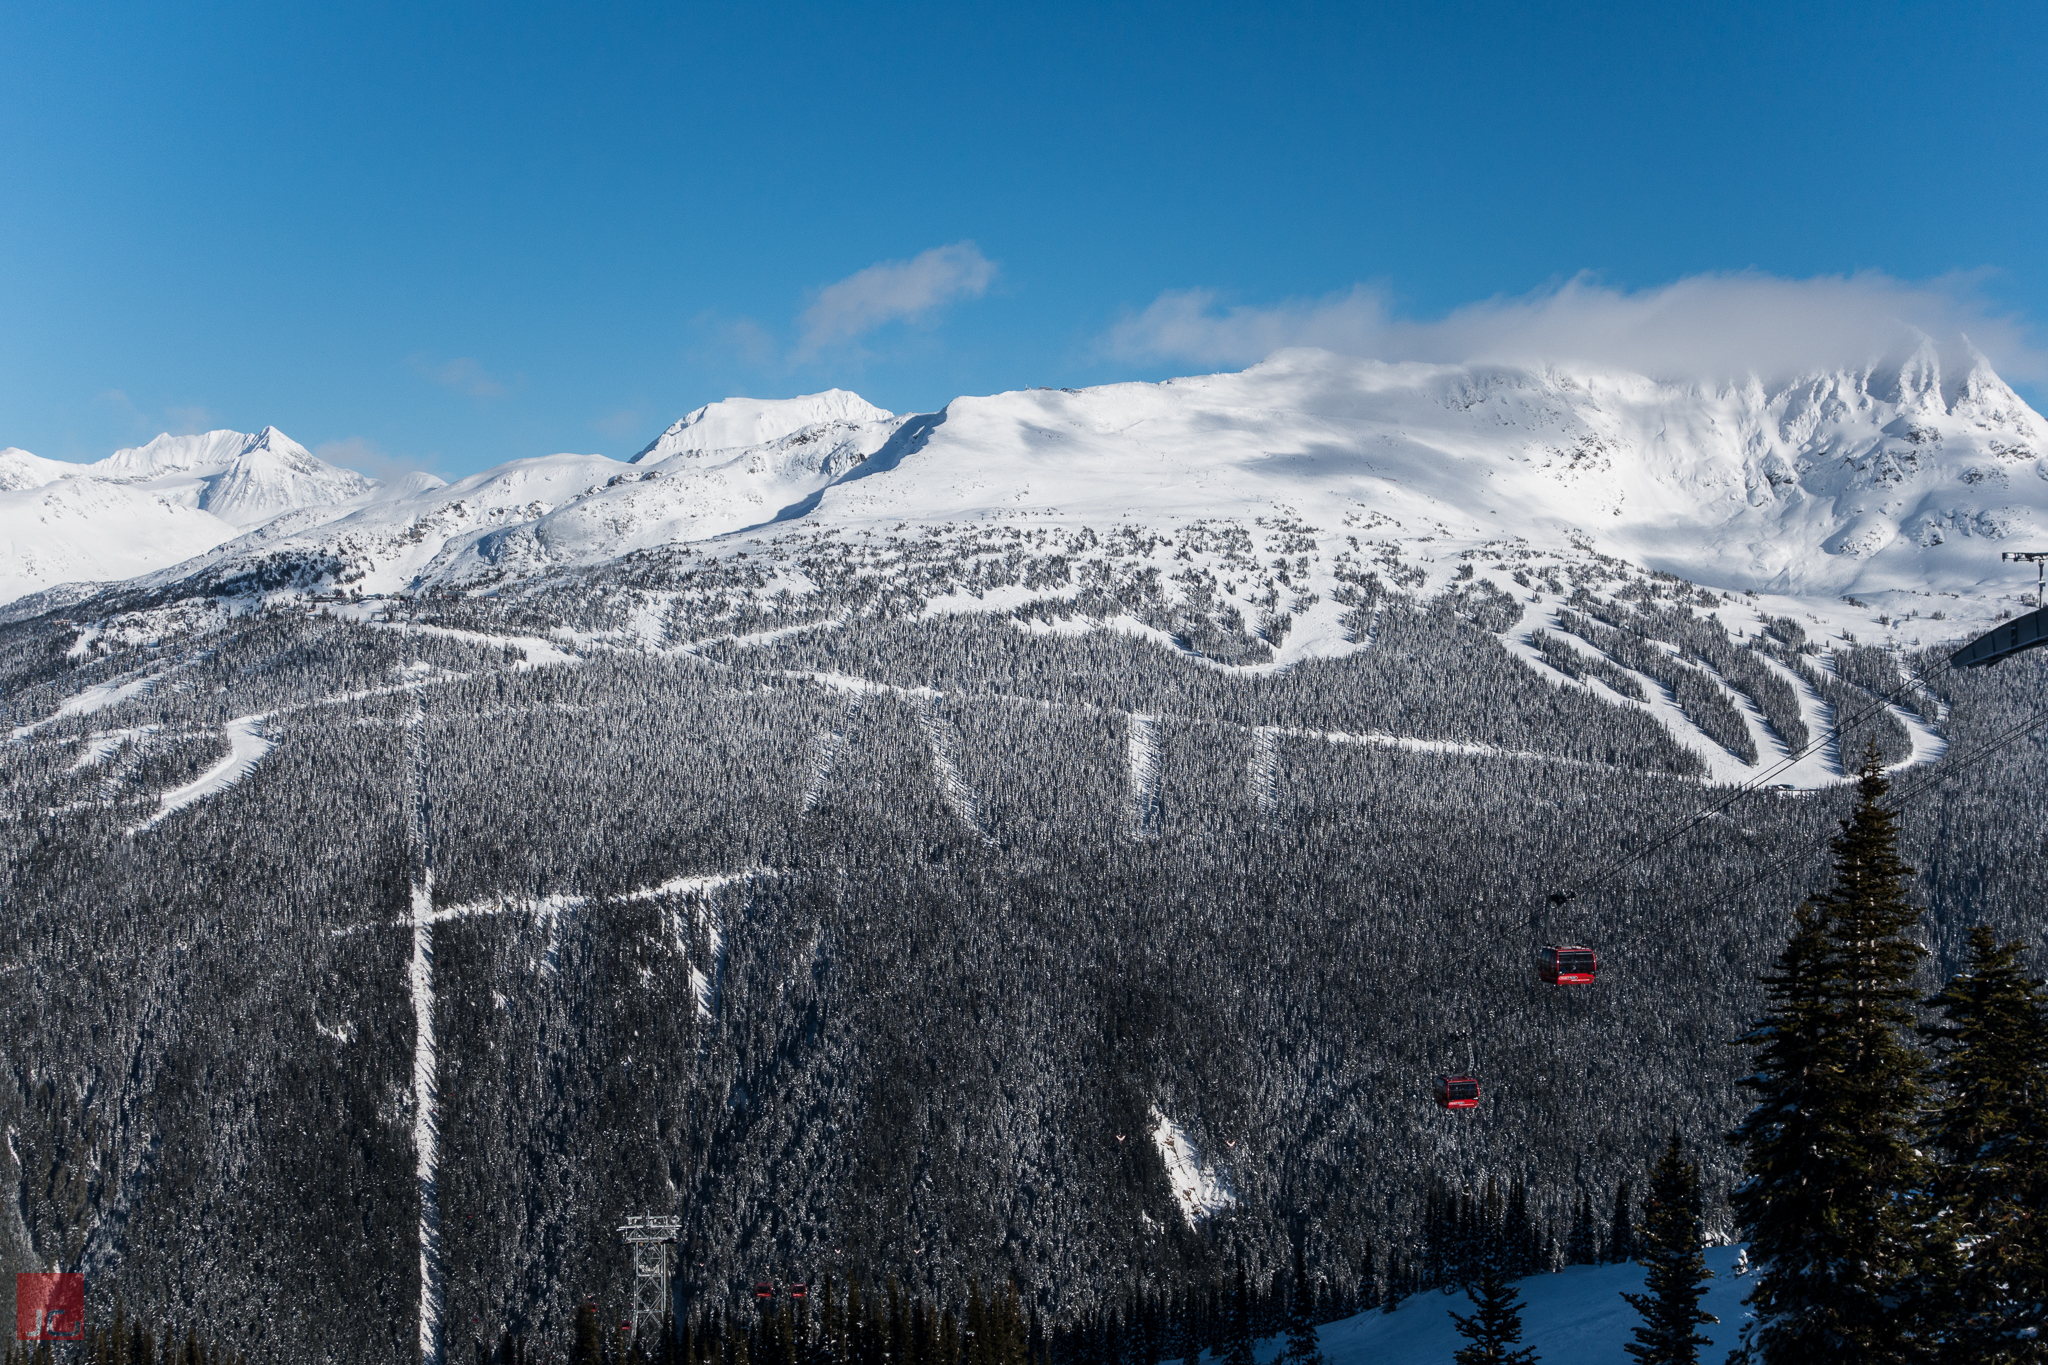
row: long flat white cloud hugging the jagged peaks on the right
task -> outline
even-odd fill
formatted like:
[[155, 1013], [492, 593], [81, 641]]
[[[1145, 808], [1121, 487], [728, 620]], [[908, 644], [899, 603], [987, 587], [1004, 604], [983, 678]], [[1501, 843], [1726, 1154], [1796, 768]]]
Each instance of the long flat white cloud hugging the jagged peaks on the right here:
[[1282, 346], [1376, 360], [1597, 364], [1659, 379], [1784, 377], [1862, 366], [1919, 329], [1968, 336], [2009, 379], [2048, 375], [2028, 327], [1976, 295], [1978, 276], [1696, 274], [1618, 291], [1579, 276], [1518, 299], [1468, 303], [1436, 321], [1395, 317], [1364, 284], [1274, 307], [1219, 307], [1206, 289], [1167, 291], [1122, 317], [1102, 348], [1122, 360], [1249, 364]]

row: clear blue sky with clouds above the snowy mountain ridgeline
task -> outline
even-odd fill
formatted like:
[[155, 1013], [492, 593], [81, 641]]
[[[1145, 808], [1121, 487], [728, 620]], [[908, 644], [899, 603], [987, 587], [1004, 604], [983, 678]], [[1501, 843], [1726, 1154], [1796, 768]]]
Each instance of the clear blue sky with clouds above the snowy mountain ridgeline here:
[[4, 2], [0, 444], [457, 475], [735, 393], [1890, 317], [2038, 401], [2044, 51], [2040, 4]]

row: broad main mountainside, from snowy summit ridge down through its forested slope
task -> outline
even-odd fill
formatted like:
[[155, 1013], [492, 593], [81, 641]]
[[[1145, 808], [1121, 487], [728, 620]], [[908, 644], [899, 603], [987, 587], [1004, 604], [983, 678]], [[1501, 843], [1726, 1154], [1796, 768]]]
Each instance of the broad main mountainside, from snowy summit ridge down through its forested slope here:
[[[2038, 417], [1901, 375], [1294, 352], [756, 405], [760, 444], [375, 489], [0, 620], [0, 1271], [446, 1361], [623, 1308], [627, 1212], [684, 1220], [698, 1308], [975, 1277], [1073, 1322], [1122, 1267], [1419, 1254], [1489, 1177], [1561, 1232], [1673, 1128], [1718, 1191], [1726, 1042], [1866, 739], [1933, 970], [2048, 929], [2048, 657], [1937, 651], [1999, 610], [1942, 593], [2032, 516]], [[1929, 499], [1972, 534], [1827, 548]], [[1540, 984], [1546, 941], [1602, 980]]]

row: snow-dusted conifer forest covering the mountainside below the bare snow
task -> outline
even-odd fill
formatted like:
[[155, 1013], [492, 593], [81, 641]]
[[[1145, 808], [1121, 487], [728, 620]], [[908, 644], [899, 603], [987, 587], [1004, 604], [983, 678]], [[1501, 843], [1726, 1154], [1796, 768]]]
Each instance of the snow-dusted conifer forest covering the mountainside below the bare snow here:
[[[1649, 1254], [1673, 1134], [1702, 1236], [1767, 1263], [1804, 1216], [1753, 1105], [1819, 1074], [1896, 1197], [1831, 1205], [1882, 1257], [1774, 1287], [1759, 1359], [1827, 1355], [1851, 1291], [1944, 1359], [2034, 1359], [1999, 1267], [2040, 1265], [2038, 1138], [2007, 1150], [2040, 1097], [1987, 1087], [2023, 1066], [1980, 1040], [2038, 1019], [2042, 743], [1995, 741], [2040, 655], [1823, 667], [1638, 577], [1534, 641], [1577, 669], [1544, 675], [1479, 585], [1372, 581], [1364, 649], [1257, 671], [1245, 622], [1143, 583], [1098, 614], [1153, 636], [635, 573], [0, 626], [0, 1252], [84, 1271], [100, 1328], [180, 1324], [76, 1359], [188, 1359], [203, 1324], [205, 1361], [1243, 1361], [1290, 1318]], [[657, 589], [662, 647], [604, 636]], [[1663, 688], [1741, 755], [1733, 708], [1790, 735], [1804, 677], [1886, 763], [1907, 671], [1948, 757], [1896, 776], [1896, 866], [1847, 890], [1868, 784], [1694, 821], [1698, 755], [1626, 704]], [[1538, 982], [1561, 941], [1595, 986]], [[1862, 1033], [1772, 1052], [1843, 1001]], [[1438, 1107], [1444, 1072], [1481, 1107]], [[682, 1232], [670, 1320], [621, 1332], [631, 1214]], [[1968, 1336], [1927, 1326], [1952, 1304]]]

